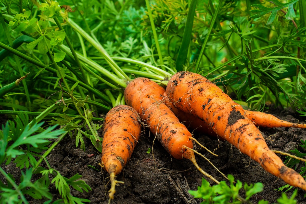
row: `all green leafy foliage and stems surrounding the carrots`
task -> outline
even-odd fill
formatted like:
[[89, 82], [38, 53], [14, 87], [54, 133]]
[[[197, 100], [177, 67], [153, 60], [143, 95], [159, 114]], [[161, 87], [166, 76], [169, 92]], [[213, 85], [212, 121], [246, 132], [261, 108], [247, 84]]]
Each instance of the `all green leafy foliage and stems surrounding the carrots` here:
[[[12, 115], [0, 131], [0, 163], [25, 171], [17, 185], [0, 169], [7, 180], [0, 183], [2, 203], [27, 203], [24, 195], [50, 203], [50, 184], [62, 197], [54, 203], [89, 202], [70, 194], [69, 186], [90, 190], [80, 175], [68, 179], [39, 164], [48, 163], [46, 156], [66, 135], [83, 150], [89, 138], [101, 152], [101, 126], [94, 122], [101, 119], [95, 116], [124, 103], [123, 84], [137, 76], [166, 85], [184, 69], [214, 81], [250, 109], [273, 103], [305, 113], [302, 0], [3, 0], [0, 23], [0, 113]], [[40, 175], [34, 183], [33, 174]], [[220, 196], [238, 195], [242, 184], [238, 190], [238, 181], [231, 185], [224, 192], [221, 186], [203, 191], [217, 203]], [[244, 187], [246, 200], [258, 186]]]

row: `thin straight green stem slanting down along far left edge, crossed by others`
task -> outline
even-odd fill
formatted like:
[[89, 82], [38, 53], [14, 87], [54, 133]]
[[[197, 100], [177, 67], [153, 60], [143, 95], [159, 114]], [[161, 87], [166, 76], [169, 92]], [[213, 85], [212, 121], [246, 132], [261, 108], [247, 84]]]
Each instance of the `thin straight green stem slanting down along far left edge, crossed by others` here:
[[[3, 19], [3, 16], [2, 16], [1, 12], [0, 12], [0, 21], [1, 21], [1, 24], [2, 24], [2, 27], [3, 27], [3, 30], [4, 30], [4, 32], [6, 34], [6, 38], [9, 41], [9, 45], [11, 47], [13, 47], [13, 40], [12, 40], [10, 34], [9, 34], [8, 28], [6, 27], [6, 23], [4, 22], [4, 19]], [[21, 68], [21, 64], [20, 64], [19, 58], [16, 55], [14, 55], [14, 58], [15, 58], [15, 62], [16, 62], [17, 69], [18, 69], [18, 72], [20, 74], [20, 77], [22, 77], [22, 76], [24, 76], [24, 73], [23, 73], [23, 70]], [[27, 83], [25, 82], [25, 80], [22, 81], [22, 85], [24, 87], [24, 92], [25, 92], [25, 95], [27, 97], [29, 108], [31, 110], [31, 99], [30, 99], [30, 96], [29, 96], [28, 86], [27, 86]]]

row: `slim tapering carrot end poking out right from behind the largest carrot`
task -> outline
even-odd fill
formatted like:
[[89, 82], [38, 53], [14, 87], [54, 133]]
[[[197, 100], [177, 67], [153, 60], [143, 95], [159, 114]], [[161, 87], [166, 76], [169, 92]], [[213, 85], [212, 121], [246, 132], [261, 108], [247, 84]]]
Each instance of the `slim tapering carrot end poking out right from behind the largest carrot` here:
[[306, 124], [299, 124], [299, 123], [290, 123], [287, 121], [283, 121], [278, 119], [277, 117], [262, 113], [259, 111], [250, 111], [244, 110], [245, 117], [250, 119], [255, 123], [256, 126], [266, 127], [266, 128], [279, 128], [279, 127], [286, 127], [286, 128], [306, 128]]

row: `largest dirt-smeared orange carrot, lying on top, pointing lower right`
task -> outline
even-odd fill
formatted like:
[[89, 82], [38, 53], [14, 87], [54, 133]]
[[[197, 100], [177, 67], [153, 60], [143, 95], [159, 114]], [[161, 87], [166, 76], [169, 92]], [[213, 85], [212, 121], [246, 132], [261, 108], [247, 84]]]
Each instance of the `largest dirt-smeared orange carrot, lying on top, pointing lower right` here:
[[202, 118], [217, 135], [257, 161], [267, 172], [306, 190], [304, 178], [269, 150], [258, 128], [244, 117], [244, 109], [214, 83], [199, 74], [178, 72], [166, 90], [177, 108]]

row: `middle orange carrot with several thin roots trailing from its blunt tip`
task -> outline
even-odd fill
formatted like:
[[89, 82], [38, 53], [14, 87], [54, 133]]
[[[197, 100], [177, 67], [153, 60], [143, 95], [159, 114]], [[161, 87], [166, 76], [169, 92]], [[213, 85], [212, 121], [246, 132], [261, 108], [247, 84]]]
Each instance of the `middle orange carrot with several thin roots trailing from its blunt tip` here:
[[165, 100], [164, 91], [165, 89], [154, 81], [136, 78], [125, 88], [125, 102], [139, 113], [141, 119], [172, 157], [191, 160], [200, 172], [219, 183], [197, 164], [192, 135], [174, 113], [162, 103]]

